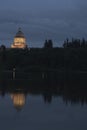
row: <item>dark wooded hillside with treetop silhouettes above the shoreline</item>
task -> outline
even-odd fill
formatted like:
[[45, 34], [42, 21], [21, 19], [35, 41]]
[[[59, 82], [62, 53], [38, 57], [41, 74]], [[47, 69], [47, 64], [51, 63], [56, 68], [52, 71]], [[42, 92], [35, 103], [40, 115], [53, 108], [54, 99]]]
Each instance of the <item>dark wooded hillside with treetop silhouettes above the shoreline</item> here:
[[53, 48], [46, 40], [43, 48], [0, 49], [0, 69], [3, 71], [87, 71], [87, 42], [67, 39], [64, 48]]

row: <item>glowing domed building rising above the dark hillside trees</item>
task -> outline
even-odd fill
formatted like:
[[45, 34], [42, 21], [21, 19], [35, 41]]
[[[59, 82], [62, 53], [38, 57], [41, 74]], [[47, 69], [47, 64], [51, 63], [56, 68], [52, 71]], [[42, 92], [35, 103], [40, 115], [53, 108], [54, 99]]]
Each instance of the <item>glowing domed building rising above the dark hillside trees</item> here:
[[16, 36], [14, 37], [14, 42], [11, 45], [11, 48], [21, 48], [25, 49], [27, 47], [26, 45], [26, 38], [21, 31], [21, 28], [18, 29], [18, 32], [16, 33]]

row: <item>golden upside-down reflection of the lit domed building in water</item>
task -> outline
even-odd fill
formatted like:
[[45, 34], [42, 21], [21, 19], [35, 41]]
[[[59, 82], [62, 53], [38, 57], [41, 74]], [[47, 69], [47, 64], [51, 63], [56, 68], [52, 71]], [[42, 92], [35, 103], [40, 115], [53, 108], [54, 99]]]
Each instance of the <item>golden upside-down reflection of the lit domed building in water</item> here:
[[23, 93], [15, 93], [11, 95], [14, 107], [17, 110], [21, 110], [25, 105], [25, 95]]

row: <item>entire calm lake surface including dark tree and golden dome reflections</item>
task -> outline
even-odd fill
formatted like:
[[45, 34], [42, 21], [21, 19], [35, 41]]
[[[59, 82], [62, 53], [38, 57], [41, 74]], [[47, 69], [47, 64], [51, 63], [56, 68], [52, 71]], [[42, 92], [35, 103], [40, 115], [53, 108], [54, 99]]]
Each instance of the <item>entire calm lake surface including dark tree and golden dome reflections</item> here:
[[87, 130], [86, 74], [53, 77], [0, 82], [1, 130]]

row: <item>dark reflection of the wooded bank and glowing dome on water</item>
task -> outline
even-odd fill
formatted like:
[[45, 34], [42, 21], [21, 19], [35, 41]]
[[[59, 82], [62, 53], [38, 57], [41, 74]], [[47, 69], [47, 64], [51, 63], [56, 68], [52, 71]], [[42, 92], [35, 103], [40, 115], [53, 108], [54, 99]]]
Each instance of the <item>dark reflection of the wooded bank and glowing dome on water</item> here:
[[[39, 77], [39, 78], [38, 78]], [[61, 97], [66, 105], [87, 104], [87, 74], [47, 72], [33, 73], [31, 80], [0, 81], [0, 95], [11, 95], [13, 105], [21, 110], [26, 102], [26, 95], [42, 95], [44, 103], [51, 103]]]

